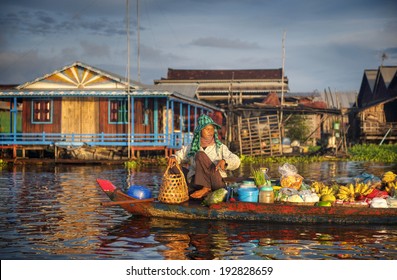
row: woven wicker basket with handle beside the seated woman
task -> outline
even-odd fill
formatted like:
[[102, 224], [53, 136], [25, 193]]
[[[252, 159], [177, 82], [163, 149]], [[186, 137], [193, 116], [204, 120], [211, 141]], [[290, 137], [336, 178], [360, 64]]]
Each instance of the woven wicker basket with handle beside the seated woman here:
[[176, 165], [179, 174], [170, 174], [168, 166], [164, 172], [163, 183], [161, 184], [158, 200], [167, 204], [179, 204], [189, 200], [189, 191], [185, 175], [179, 165]]

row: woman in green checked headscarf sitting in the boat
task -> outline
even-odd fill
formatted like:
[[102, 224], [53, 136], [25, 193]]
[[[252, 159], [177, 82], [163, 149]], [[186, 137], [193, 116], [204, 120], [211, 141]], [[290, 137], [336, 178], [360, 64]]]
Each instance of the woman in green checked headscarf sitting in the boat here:
[[240, 166], [240, 158], [219, 140], [218, 129], [221, 129], [220, 125], [209, 116], [201, 115], [192, 143], [183, 146], [168, 160], [170, 167], [189, 162], [186, 180], [190, 191], [193, 191], [191, 198], [199, 199], [225, 187], [223, 179], [227, 177], [226, 170], [235, 170]]

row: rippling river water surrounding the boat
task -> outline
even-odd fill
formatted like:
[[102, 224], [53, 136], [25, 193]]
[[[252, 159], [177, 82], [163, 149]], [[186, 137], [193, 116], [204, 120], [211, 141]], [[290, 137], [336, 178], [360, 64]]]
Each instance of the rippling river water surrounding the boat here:
[[[279, 176], [277, 165], [271, 178]], [[235, 176], [247, 174], [243, 166]], [[304, 178], [380, 176], [397, 164], [321, 162], [297, 165]], [[396, 226], [290, 225], [133, 217], [101, 206], [96, 184], [108, 179], [158, 192], [165, 167], [128, 171], [114, 165], [14, 166], [0, 170], [2, 260], [397, 259]]]

